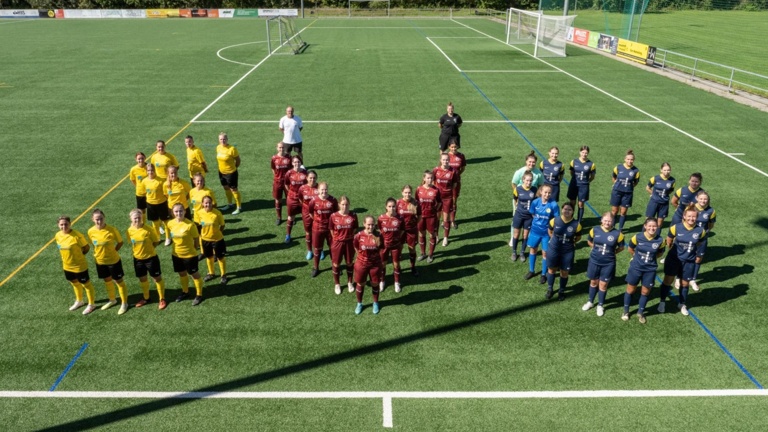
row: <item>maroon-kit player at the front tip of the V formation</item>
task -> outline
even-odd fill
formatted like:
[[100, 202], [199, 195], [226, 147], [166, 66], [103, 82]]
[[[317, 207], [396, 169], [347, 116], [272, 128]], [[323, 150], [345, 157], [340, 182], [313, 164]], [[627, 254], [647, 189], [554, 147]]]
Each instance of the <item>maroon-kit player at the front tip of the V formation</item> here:
[[373, 294], [373, 313], [379, 313], [379, 274], [381, 272], [381, 252], [383, 247], [381, 236], [376, 233], [374, 227], [376, 221], [373, 216], [366, 216], [363, 222], [363, 230], [355, 234], [352, 245], [357, 252], [355, 259], [355, 294], [357, 306], [355, 315], [363, 312], [363, 287], [371, 278], [371, 293]]

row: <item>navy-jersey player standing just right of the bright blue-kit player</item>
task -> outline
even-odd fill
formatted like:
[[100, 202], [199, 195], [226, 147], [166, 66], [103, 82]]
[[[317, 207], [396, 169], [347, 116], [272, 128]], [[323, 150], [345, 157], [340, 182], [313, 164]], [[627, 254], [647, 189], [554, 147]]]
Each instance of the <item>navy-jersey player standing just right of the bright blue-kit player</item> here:
[[568, 274], [573, 266], [573, 255], [576, 252], [576, 242], [581, 239], [581, 224], [573, 218], [573, 205], [563, 204], [560, 209], [562, 216], [549, 221], [549, 247], [547, 248], [547, 300], [552, 298], [555, 286], [555, 275], [560, 272], [560, 286], [557, 299], [565, 300], [565, 287], [568, 284]]

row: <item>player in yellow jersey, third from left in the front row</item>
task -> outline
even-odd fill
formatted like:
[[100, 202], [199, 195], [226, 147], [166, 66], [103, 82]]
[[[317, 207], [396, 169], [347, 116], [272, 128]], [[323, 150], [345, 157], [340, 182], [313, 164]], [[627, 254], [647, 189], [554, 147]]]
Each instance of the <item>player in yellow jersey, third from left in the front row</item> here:
[[[167, 207], [166, 207], [167, 208]], [[155, 246], [160, 244], [160, 237], [152, 228], [144, 225], [141, 210], [133, 209], [130, 213], [131, 226], [128, 227], [128, 240], [131, 241], [133, 252], [133, 270], [141, 284], [141, 292], [144, 297], [136, 303], [136, 307], [142, 307], [149, 303], [149, 280], [147, 273], [155, 281], [157, 294], [160, 297], [158, 309], [163, 310], [168, 303], [165, 301], [165, 281], [160, 269], [160, 259], [155, 252]]]

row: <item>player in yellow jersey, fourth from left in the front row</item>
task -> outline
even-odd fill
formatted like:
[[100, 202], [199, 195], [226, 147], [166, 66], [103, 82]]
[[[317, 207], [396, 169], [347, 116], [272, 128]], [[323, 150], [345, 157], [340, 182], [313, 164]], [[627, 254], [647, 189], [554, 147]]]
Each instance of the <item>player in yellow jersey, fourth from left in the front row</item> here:
[[184, 206], [181, 204], [174, 205], [173, 216], [174, 218], [168, 222], [168, 229], [171, 231], [171, 238], [173, 239], [171, 259], [173, 260], [173, 271], [179, 274], [181, 281], [181, 294], [176, 297], [176, 301], [180, 302], [189, 296], [189, 276], [192, 276], [196, 293], [192, 306], [197, 306], [203, 301], [203, 280], [200, 279], [200, 272], [197, 270], [196, 250], [200, 234], [197, 231], [197, 226], [184, 217]]

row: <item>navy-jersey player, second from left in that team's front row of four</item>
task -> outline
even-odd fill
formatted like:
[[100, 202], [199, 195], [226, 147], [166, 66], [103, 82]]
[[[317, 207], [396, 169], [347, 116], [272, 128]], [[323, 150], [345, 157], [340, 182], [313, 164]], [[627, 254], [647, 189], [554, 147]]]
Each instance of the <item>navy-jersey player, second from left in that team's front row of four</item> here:
[[608, 285], [616, 275], [616, 254], [624, 250], [624, 234], [614, 228], [613, 221], [611, 212], [603, 213], [600, 226], [589, 230], [587, 236], [587, 243], [592, 248], [587, 266], [589, 299], [581, 310], [592, 309], [597, 296], [597, 316], [605, 314], [605, 295], [608, 292]]

